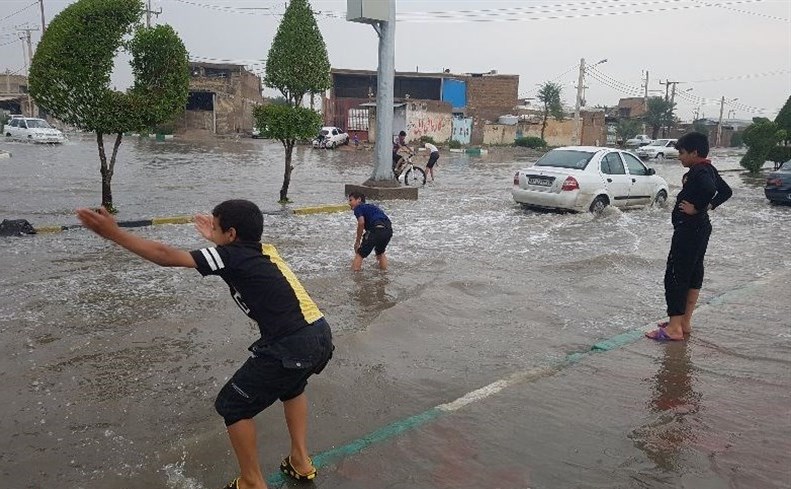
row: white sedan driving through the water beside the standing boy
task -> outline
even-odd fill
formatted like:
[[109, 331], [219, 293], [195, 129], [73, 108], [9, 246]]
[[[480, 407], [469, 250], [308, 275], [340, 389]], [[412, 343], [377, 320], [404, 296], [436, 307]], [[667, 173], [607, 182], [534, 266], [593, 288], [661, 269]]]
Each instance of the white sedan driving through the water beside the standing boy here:
[[629, 151], [566, 146], [517, 171], [511, 194], [524, 207], [598, 213], [608, 205], [664, 205], [668, 187]]

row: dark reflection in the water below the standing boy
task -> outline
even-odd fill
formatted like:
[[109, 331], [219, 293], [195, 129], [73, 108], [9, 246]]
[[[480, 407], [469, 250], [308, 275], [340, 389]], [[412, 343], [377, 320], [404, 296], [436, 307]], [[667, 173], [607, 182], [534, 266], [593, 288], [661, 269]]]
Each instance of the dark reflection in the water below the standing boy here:
[[631, 438], [657, 467], [678, 470], [682, 450], [694, 441], [691, 415], [700, 409], [701, 394], [695, 391], [687, 341], [669, 342], [663, 349], [648, 405], [652, 417], [634, 430]]

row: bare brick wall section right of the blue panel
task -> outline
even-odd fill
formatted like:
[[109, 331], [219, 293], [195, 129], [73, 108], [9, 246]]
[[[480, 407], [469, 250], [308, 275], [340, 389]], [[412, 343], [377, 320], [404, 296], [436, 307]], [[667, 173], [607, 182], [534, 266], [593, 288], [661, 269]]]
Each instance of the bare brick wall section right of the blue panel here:
[[519, 97], [519, 75], [467, 76], [467, 115], [473, 118], [470, 143], [482, 144], [486, 121], [513, 113]]

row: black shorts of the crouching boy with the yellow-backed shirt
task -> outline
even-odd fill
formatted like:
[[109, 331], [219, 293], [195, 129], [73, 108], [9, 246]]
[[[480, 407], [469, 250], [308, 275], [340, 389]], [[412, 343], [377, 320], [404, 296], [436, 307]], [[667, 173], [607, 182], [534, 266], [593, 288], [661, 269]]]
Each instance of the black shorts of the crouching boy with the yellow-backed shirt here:
[[220, 390], [214, 408], [230, 426], [251, 419], [276, 400], [305, 390], [308, 377], [332, 358], [332, 333], [324, 318], [268, 345], [253, 345], [252, 356]]

